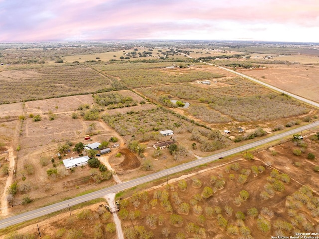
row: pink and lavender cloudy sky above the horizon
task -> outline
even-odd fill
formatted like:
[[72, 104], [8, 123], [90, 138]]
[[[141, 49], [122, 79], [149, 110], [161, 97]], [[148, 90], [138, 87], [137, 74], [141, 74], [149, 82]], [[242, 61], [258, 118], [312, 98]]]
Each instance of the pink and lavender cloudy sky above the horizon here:
[[0, 42], [319, 42], [319, 0], [0, 0]]

